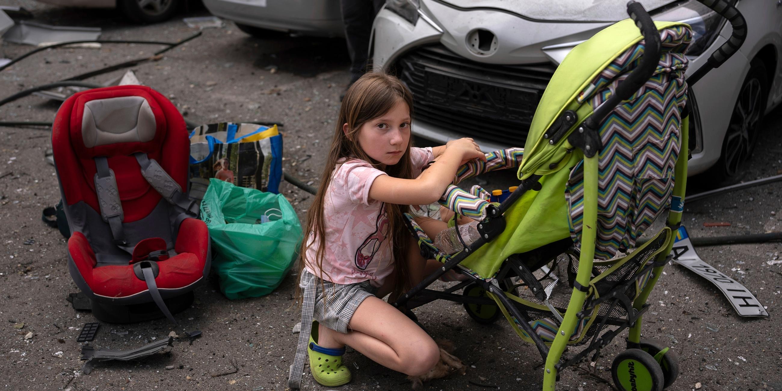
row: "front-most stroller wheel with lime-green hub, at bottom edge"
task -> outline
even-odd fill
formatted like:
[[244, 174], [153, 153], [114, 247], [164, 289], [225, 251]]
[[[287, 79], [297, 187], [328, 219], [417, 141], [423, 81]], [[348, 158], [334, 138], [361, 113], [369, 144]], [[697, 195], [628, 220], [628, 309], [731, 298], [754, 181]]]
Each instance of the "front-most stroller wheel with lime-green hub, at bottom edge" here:
[[611, 375], [619, 391], [662, 391], [665, 382], [655, 357], [640, 349], [619, 353], [611, 366]]

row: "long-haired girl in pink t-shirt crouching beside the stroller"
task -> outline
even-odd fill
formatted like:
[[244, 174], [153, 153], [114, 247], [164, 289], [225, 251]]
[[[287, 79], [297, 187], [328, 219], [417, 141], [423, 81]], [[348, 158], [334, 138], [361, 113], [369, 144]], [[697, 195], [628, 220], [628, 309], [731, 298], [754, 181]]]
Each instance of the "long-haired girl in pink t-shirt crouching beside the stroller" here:
[[[292, 389], [300, 388], [305, 353], [324, 386], [350, 382], [346, 345], [407, 375], [423, 375], [439, 360], [432, 338], [382, 297], [404, 292], [439, 265], [421, 257], [403, 213], [436, 202], [462, 163], [486, 158], [472, 138], [411, 148], [412, 115], [411, 92], [393, 76], [364, 74], [345, 94], [300, 252]], [[433, 220], [427, 226], [446, 228]]]

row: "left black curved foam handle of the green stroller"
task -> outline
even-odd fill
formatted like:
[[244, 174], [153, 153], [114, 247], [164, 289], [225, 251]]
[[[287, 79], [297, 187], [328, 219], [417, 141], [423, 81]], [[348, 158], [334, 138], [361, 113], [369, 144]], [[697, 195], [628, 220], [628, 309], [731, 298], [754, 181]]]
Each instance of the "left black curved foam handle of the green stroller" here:
[[630, 19], [636, 23], [644, 36], [644, 56], [641, 57], [640, 64], [630, 73], [630, 76], [616, 86], [614, 94], [594, 109], [592, 115], [584, 121], [585, 125], [591, 129], [600, 127], [604, 118], [615, 109], [616, 105], [623, 100], [630, 99], [630, 96], [633, 96], [657, 69], [657, 63], [660, 59], [660, 33], [657, 31], [655, 22], [651, 20], [651, 16], [639, 2], [627, 2], [627, 14], [630, 15]]

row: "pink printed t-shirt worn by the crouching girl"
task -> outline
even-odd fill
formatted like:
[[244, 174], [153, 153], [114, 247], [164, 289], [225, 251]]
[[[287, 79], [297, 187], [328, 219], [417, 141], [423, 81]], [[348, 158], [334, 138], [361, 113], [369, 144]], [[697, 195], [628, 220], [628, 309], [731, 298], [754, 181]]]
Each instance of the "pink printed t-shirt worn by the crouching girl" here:
[[[431, 148], [411, 148], [410, 152], [415, 178], [434, 156]], [[386, 203], [369, 198], [369, 188], [379, 175], [386, 173], [358, 159], [338, 164], [332, 173], [323, 200], [323, 278], [330, 282], [353, 284], [371, 280], [372, 286], [380, 286], [393, 271]], [[307, 241], [313, 241], [312, 233]], [[307, 249], [307, 260], [313, 266], [317, 265], [316, 253], [317, 241]], [[306, 268], [321, 276], [309, 265]]]

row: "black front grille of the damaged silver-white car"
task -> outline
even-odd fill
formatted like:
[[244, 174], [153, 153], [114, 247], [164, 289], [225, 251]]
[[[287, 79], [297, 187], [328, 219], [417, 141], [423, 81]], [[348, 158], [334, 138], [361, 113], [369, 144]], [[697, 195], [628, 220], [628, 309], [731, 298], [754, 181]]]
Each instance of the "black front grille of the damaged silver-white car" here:
[[500, 145], [523, 146], [555, 66], [477, 63], [443, 45], [415, 48], [389, 72], [413, 93], [415, 120]]

